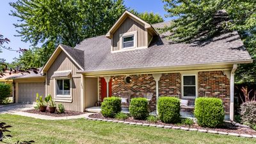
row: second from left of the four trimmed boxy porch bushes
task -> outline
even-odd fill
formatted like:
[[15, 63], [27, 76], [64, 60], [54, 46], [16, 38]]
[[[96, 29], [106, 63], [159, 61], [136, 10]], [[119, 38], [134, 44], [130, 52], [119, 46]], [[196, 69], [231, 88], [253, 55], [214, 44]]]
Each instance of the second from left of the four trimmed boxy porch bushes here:
[[137, 120], [145, 120], [148, 116], [148, 101], [144, 97], [133, 98], [131, 100], [129, 111]]

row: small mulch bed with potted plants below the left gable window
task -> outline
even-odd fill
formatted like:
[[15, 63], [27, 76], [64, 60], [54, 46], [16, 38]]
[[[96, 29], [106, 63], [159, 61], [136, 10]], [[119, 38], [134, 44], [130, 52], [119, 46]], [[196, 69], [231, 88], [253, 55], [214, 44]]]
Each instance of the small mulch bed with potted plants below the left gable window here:
[[24, 112], [35, 113], [35, 114], [39, 114], [39, 115], [48, 115], [48, 116], [52, 116], [52, 117], [67, 117], [67, 116], [74, 116], [74, 115], [84, 114], [82, 112], [74, 112], [74, 111], [68, 111], [68, 110], [65, 110], [65, 113], [58, 113], [58, 112], [50, 113], [49, 110], [46, 110], [46, 112], [40, 112], [39, 110], [35, 110], [35, 109], [26, 110]]

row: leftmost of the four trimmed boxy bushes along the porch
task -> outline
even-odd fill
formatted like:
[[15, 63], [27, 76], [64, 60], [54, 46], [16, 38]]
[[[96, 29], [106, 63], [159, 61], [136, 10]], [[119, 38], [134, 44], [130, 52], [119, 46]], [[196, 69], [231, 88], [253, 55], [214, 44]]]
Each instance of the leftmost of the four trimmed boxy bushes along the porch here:
[[121, 112], [120, 97], [105, 97], [101, 104], [101, 113], [104, 117], [115, 117], [116, 113]]

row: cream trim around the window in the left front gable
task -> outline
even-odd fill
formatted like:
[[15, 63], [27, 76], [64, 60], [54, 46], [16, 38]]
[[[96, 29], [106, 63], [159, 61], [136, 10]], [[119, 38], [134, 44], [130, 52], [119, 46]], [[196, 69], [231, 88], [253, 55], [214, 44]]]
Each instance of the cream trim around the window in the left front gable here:
[[[69, 95], [57, 95], [56, 94], [56, 89], [57, 89], [57, 80], [69, 80], [70, 82], [70, 94]], [[60, 101], [60, 102], [72, 102], [72, 78], [54, 78], [54, 101]]]

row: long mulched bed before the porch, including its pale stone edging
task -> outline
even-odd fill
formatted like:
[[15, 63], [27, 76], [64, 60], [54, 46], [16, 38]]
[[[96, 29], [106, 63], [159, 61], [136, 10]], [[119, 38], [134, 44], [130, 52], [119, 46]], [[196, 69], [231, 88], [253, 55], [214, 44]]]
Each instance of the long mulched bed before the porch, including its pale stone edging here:
[[109, 122], [120, 122], [124, 124], [134, 124], [134, 125], [136, 124], [136, 125], [143, 125], [143, 126], [173, 128], [173, 129], [184, 129], [184, 130], [191, 129], [191, 131], [194, 130], [194, 131], [201, 131], [204, 133], [229, 134], [234, 136], [244, 136], [248, 138], [252, 138], [253, 136], [255, 136], [256, 138], [256, 131], [254, 131], [253, 129], [250, 129], [247, 127], [234, 126], [230, 122], [225, 122], [218, 128], [205, 128], [205, 127], [198, 126], [198, 124], [193, 124], [192, 126], [189, 127], [182, 124], [165, 124], [160, 120], [157, 120], [156, 123], [148, 122], [147, 120], [134, 120], [132, 119], [132, 117], [129, 117], [128, 119], [125, 119], [125, 120], [118, 120], [118, 119], [103, 117], [101, 113], [95, 113], [93, 115], [90, 115], [89, 119], [103, 120], [103, 121], [109, 121]]

